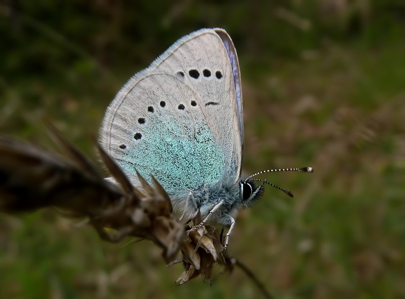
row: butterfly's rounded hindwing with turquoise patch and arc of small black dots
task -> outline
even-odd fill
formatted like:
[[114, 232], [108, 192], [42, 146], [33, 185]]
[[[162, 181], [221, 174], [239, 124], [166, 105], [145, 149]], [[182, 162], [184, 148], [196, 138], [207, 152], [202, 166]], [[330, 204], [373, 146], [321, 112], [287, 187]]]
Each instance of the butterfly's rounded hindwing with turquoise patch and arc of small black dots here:
[[218, 182], [226, 168], [201, 103], [182, 78], [142, 71], [107, 108], [100, 142], [134, 185], [136, 169], [149, 182], [153, 175], [173, 200], [184, 198]]

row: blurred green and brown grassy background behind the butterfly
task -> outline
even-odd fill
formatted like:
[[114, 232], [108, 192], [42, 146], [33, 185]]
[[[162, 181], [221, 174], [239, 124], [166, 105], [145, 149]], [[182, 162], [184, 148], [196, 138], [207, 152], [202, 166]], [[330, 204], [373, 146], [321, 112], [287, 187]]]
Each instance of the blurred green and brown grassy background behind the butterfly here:
[[[223, 27], [244, 91], [244, 172], [269, 174], [229, 252], [276, 298], [405, 297], [405, 3], [13, 1], [0, 4], [0, 133], [54, 148], [44, 117], [92, 135], [135, 72]], [[29, 200], [29, 198], [27, 198]], [[99, 240], [52, 209], [0, 215], [0, 298], [260, 298], [236, 269], [182, 286], [148, 242]], [[128, 240], [126, 240], [128, 241]]]

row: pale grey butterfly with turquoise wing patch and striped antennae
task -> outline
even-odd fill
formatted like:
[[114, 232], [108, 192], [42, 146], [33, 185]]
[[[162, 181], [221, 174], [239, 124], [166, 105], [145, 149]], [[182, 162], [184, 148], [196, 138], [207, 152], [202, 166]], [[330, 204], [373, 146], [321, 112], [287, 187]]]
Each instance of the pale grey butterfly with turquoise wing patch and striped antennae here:
[[[183, 36], [136, 73], [107, 108], [100, 143], [135, 187], [141, 188], [136, 172], [149, 183], [153, 176], [181, 220], [200, 212], [199, 226], [228, 227], [224, 249], [237, 212], [252, 206], [267, 183], [252, 179], [257, 174], [241, 178], [240, 70], [233, 42], [220, 28]], [[279, 170], [312, 168], [266, 172]]]

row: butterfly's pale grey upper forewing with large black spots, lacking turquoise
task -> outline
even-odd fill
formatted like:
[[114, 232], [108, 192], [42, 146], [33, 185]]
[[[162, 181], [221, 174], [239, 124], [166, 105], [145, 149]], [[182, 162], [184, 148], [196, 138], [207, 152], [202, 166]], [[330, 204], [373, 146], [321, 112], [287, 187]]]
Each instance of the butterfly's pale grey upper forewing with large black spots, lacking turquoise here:
[[222, 29], [201, 29], [186, 35], [158, 57], [150, 71], [176, 75], [200, 96], [198, 105], [222, 147], [227, 173], [236, 182], [244, 135], [239, 64], [229, 35]]

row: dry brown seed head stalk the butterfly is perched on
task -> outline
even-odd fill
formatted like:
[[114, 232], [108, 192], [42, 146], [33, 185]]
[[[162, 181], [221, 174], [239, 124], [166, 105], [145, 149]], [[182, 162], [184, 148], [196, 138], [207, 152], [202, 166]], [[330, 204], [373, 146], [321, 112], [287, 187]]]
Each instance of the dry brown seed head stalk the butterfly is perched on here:
[[[168, 264], [182, 262], [183, 284], [202, 275], [211, 281], [215, 262], [232, 267], [224, 258], [218, 231], [212, 226], [184, 226], [172, 214], [170, 198], [152, 178], [153, 187], [139, 174], [143, 191], [98, 147], [101, 160], [117, 183], [102, 177], [97, 167], [48, 125], [66, 159], [28, 143], [0, 137], [0, 211], [15, 213], [55, 206], [70, 217], [87, 218], [99, 236], [118, 242], [127, 236], [147, 239], [163, 249]], [[200, 217], [193, 220], [199, 224]], [[181, 255], [178, 255], [178, 252]]]

